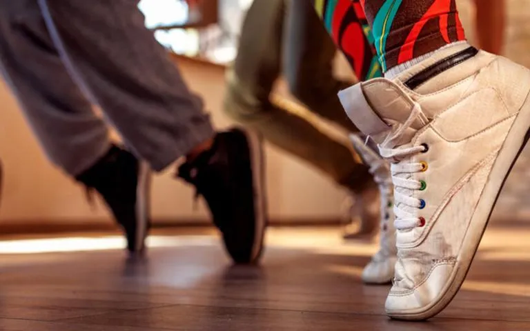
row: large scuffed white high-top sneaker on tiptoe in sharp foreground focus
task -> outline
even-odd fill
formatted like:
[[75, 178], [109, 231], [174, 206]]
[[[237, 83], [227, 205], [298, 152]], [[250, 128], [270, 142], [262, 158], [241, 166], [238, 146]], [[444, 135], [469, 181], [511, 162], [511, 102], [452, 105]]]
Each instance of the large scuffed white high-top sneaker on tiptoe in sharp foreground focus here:
[[467, 43], [393, 80], [340, 93], [391, 164], [397, 229], [386, 312], [422, 320], [462, 285], [511, 166], [529, 138], [530, 70]]

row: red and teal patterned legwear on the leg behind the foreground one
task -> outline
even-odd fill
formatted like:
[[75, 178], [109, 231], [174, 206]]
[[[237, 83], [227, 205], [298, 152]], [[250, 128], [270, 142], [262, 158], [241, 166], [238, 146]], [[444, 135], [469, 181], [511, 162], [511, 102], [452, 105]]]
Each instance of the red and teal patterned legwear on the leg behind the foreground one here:
[[357, 78], [364, 81], [382, 77], [382, 71], [360, 1], [313, 0], [326, 30], [348, 59]]

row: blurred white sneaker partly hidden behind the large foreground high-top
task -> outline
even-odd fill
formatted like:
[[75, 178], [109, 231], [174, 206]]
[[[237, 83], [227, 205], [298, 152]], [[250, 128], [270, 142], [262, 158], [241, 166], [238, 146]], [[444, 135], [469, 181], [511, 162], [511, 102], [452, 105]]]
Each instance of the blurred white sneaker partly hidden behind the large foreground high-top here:
[[397, 260], [395, 248], [395, 228], [393, 208], [393, 186], [389, 162], [377, 152], [366, 146], [357, 134], [350, 135], [353, 148], [362, 161], [370, 167], [373, 180], [380, 192], [380, 237], [379, 250], [362, 271], [362, 281], [369, 284], [390, 283], [394, 277], [394, 265]]

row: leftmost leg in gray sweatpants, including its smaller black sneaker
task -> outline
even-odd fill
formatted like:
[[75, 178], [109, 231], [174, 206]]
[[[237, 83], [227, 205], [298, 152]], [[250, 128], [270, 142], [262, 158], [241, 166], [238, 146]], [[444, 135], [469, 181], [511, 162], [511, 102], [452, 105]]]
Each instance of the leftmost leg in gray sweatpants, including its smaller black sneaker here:
[[[108, 130], [63, 66], [37, 1], [0, 1], [0, 72], [16, 95], [48, 158], [107, 201], [126, 234], [128, 250], [144, 248], [148, 212], [148, 167], [129, 152], [112, 147]], [[112, 155], [112, 158], [106, 157]], [[97, 168], [106, 185], [95, 183]], [[115, 187], [128, 194], [113, 199]], [[110, 201], [109, 201], [110, 199]]]

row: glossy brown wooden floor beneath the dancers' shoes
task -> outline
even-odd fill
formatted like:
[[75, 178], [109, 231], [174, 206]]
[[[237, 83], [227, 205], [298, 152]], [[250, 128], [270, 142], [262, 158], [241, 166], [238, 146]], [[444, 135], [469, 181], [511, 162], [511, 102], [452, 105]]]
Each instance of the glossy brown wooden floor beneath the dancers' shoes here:
[[271, 229], [261, 267], [230, 266], [208, 233], [159, 233], [143, 263], [119, 245], [1, 241], [0, 330], [530, 330], [530, 227], [489, 229], [461, 292], [426, 323], [384, 316], [389, 287], [359, 277], [375, 246], [336, 229]]

